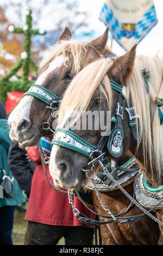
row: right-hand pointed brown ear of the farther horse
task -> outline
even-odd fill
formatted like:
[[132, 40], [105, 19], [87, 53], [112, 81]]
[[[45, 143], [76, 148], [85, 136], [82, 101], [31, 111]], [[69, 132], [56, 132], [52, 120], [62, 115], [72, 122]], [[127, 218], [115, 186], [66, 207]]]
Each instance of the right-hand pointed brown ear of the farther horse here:
[[90, 41], [90, 44], [93, 45], [96, 48], [96, 50], [98, 50], [101, 53], [104, 51], [106, 43], [108, 41], [108, 32], [109, 28], [106, 28], [104, 34], [101, 35], [101, 37], [98, 37], [97, 39]]

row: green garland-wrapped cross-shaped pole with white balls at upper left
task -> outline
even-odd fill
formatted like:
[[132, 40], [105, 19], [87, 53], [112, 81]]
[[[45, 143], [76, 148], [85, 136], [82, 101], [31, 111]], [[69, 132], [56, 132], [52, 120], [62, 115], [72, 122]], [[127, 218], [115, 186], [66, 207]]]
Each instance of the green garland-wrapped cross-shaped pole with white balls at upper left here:
[[[37, 65], [30, 57], [30, 46], [32, 35], [46, 34], [45, 31], [40, 29], [32, 29], [32, 11], [28, 10], [26, 15], [26, 25], [23, 28], [10, 26], [9, 31], [12, 33], [24, 34], [24, 52], [21, 53], [21, 59], [18, 61], [14, 67], [2, 78], [0, 79], [0, 99], [5, 104], [7, 92], [9, 91], [19, 91], [26, 92], [30, 85], [34, 84], [35, 81], [29, 81], [29, 70], [30, 68], [37, 75]], [[10, 81], [11, 76], [15, 75], [16, 72], [22, 68], [23, 74], [21, 79]]]

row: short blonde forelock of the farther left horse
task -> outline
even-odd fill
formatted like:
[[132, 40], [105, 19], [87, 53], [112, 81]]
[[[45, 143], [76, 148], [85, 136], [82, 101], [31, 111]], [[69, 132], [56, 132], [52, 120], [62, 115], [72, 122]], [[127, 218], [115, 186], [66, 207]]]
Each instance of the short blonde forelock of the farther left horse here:
[[42, 59], [40, 68], [51, 62], [54, 58], [64, 55], [70, 58], [71, 76], [75, 76], [80, 69], [82, 69], [83, 58], [87, 50], [87, 44], [89, 42], [83, 42], [75, 39], [61, 40], [55, 44], [51, 50], [48, 51], [46, 57]]

